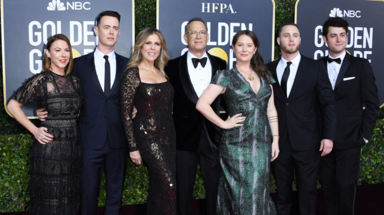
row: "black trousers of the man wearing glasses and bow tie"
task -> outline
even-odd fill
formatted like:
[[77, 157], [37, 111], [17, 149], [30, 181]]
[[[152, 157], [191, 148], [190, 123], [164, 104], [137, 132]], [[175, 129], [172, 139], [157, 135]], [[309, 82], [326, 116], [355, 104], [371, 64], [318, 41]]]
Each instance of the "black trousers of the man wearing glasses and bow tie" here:
[[196, 151], [176, 151], [176, 185], [178, 215], [193, 215], [192, 195], [200, 164], [207, 198], [207, 215], [216, 215], [220, 177], [219, 151], [212, 151], [205, 131], [202, 131]]

